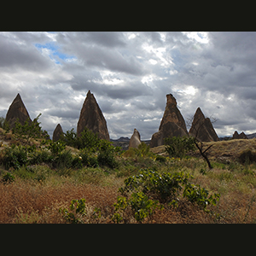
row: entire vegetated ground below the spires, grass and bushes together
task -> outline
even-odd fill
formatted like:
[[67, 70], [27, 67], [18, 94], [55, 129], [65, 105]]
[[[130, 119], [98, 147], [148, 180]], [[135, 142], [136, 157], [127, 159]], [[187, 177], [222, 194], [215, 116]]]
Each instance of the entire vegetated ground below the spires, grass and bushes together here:
[[256, 140], [204, 143], [211, 170], [197, 150], [0, 140], [0, 223], [256, 222]]

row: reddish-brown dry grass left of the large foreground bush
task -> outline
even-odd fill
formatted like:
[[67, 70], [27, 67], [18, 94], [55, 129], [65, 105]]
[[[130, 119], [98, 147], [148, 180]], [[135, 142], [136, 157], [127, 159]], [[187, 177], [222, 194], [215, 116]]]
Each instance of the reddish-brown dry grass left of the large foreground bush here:
[[0, 223], [65, 223], [59, 208], [68, 208], [70, 201], [81, 198], [85, 198], [89, 208], [100, 207], [102, 215], [108, 217], [117, 189], [68, 180], [55, 185], [21, 179], [0, 183]]

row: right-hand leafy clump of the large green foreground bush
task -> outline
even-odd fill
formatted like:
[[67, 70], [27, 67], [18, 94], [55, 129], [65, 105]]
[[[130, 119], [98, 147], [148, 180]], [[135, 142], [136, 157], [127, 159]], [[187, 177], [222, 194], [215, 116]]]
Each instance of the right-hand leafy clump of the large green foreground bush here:
[[183, 197], [186, 197], [192, 203], [197, 203], [204, 211], [207, 211], [206, 207], [210, 204], [216, 206], [216, 202], [219, 200], [218, 194], [211, 195], [210, 197], [208, 195], [209, 192], [207, 189], [191, 183], [186, 184], [183, 191]]

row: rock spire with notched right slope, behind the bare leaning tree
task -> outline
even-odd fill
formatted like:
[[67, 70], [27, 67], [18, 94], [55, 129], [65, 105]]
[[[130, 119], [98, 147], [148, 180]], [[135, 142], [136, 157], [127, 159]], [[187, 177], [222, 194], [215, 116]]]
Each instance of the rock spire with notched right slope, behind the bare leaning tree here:
[[189, 136], [196, 137], [200, 142], [218, 142], [219, 138], [209, 118], [205, 118], [201, 108], [197, 108]]

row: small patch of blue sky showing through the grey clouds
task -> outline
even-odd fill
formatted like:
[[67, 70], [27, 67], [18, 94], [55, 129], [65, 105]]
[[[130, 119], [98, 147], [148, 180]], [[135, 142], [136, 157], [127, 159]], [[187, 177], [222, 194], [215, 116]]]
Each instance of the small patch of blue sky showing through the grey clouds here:
[[46, 43], [46, 44], [34, 44], [38, 50], [43, 53], [45, 52], [44, 49], [46, 49], [46, 53], [49, 56], [49, 58], [53, 61], [55, 61], [56, 64], [61, 64], [61, 61], [74, 61], [77, 58], [73, 55], [67, 55], [60, 51], [60, 47], [56, 45], [55, 43]]

